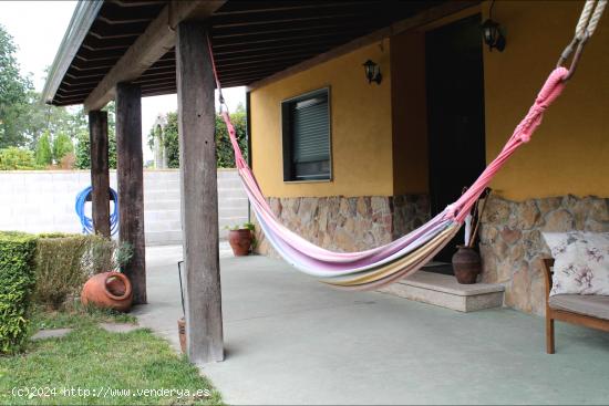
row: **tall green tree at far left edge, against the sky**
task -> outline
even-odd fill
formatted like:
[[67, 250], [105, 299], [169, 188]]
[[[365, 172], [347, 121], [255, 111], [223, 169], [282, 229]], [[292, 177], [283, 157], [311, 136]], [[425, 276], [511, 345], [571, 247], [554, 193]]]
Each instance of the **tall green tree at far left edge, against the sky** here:
[[14, 53], [17, 46], [0, 25], [0, 148], [27, 143], [29, 102], [33, 85], [21, 76]]

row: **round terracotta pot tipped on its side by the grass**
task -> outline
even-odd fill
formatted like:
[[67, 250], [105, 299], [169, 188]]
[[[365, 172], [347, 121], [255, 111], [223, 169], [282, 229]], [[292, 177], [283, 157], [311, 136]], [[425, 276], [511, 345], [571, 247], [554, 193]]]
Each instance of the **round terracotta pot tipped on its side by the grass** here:
[[131, 282], [118, 272], [103, 272], [91, 277], [84, 284], [81, 302], [102, 309], [126, 312], [133, 300]]

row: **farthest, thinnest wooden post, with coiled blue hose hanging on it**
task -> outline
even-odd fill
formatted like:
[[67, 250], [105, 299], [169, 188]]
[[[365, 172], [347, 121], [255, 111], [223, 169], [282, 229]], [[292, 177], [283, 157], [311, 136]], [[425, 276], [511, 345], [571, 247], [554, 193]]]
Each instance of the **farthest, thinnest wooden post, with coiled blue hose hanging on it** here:
[[91, 143], [91, 201], [95, 233], [110, 238], [110, 174], [107, 166], [107, 113], [89, 112]]

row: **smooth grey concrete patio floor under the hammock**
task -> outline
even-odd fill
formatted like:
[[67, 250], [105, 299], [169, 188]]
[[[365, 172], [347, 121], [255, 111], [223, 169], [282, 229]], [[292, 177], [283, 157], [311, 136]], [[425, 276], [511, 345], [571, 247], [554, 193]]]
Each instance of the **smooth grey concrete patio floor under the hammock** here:
[[[221, 251], [228, 404], [607, 404], [609, 334], [498, 309], [475, 313], [340, 292], [264, 257]], [[140, 323], [178, 347], [180, 247], [148, 247]]]

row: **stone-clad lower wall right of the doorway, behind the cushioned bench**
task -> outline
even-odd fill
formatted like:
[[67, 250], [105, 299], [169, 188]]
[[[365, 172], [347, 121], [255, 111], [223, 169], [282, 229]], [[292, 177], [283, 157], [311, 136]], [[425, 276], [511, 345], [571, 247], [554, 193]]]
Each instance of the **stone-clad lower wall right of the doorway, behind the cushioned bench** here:
[[505, 285], [504, 304], [545, 314], [543, 231], [609, 231], [609, 199], [575, 196], [522, 202], [491, 196], [481, 223], [482, 281]]

